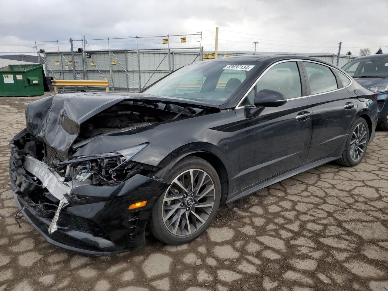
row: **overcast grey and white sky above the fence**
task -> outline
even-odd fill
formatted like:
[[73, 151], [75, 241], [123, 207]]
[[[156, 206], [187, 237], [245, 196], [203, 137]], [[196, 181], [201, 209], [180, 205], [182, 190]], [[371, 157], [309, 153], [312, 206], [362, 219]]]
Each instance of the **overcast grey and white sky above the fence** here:
[[[135, 35], [203, 32], [205, 50], [341, 53], [368, 47], [388, 52], [388, 1], [340, 0], [170, 0], [170, 1], [2, 1], [0, 54], [31, 52], [36, 41], [89, 39], [87, 49], [107, 48], [106, 40]], [[140, 48], [166, 47], [163, 37], [141, 38]], [[199, 35], [170, 38], [170, 47], [197, 47]], [[111, 48], [134, 48], [135, 39], [110, 40]], [[69, 50], [68, 42], [60, 49]], [[81, 47], [75, 42], [75, 47]], [[57, 43], [38, 43], [52, 51]]]

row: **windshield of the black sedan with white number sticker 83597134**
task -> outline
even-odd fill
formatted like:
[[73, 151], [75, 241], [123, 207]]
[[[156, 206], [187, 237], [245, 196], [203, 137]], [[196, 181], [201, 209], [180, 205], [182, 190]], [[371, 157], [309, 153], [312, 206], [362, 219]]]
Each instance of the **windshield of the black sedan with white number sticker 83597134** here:
[[144, 93], [221, 104], [257, 70], [258, 62], [197, 62], [171, 73]]

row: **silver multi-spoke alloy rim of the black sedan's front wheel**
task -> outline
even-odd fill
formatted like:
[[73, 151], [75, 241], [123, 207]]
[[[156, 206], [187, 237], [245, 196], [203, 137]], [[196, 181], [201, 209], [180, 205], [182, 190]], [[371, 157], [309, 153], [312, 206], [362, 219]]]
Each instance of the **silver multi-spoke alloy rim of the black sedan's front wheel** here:
[[188, 236], [208, 220], [214, 206], [215, 187], [204, 170], [190, 169], [171, 182], [163, 197], [162, 218], [176, 236]]

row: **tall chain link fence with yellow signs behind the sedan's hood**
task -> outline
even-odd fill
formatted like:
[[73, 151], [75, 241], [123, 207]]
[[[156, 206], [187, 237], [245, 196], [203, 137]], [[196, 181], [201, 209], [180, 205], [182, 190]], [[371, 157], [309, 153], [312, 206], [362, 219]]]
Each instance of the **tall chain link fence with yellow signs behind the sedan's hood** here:
[[[45, 73], [48, 77], [59, 80], [105, 80], [107, 78], [109, 91], [139, 92], [171, 71], [203, 60], [202, 33], [186, 34], [183, 37], [184, 42], [181, 36], [136, 36], [90, 40], [83, 38], [71, 41], [36, 42], [36, 52], [40, 55], [40, 62], [45, 64]], [[166, 46], [158, 47], [161, 43], [165, 43]], [[153, 47], [142, 48], [149, 45]], [[136, 49], [121, 49], [133, 46]], [[101, 87], [79, 87], [78, 89], [103, 90]], [[74, 87], [62, 87], [62, 90], [70, 91], [74, 90]]]

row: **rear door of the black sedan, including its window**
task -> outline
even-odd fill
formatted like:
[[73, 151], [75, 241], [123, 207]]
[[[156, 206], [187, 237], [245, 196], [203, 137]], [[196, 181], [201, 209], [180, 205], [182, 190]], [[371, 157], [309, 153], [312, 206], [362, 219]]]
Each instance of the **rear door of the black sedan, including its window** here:
[[307, 161], [314, 161], [329, 157], [342, 146], [357, 113], [357, 102], [331, 66], [314, 61], [302, 63], [313, 113]]

